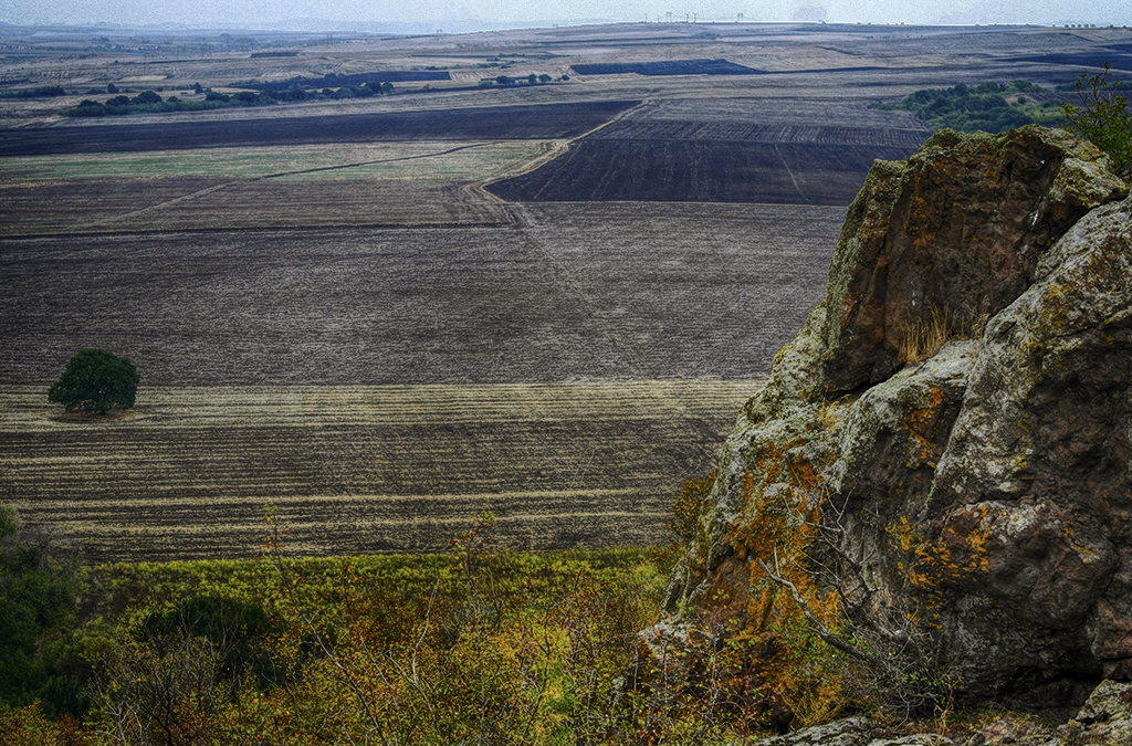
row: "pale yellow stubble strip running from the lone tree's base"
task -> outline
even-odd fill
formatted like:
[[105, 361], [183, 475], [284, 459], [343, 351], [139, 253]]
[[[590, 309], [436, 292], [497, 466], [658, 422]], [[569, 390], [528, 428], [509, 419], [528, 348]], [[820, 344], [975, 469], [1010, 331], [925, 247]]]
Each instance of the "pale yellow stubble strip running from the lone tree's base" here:
[[0, 432], [667, 419], [739, 408], [763, 381], [646, 380], [420, 386], [140, 387], [123, 419], [70, 421], [44, 386], [0, 386]]

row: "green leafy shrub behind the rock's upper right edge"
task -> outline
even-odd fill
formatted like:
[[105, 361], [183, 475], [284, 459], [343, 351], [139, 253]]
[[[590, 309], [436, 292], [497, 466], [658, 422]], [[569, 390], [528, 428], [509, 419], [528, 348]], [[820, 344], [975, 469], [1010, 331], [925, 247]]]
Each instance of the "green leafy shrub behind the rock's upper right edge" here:
[[1077, 82], [1080, 106], [1062, 104], [1069, 127], [1108, 153], [1114, 170], [1121, 175], [1132, 173], [1132, 113], [1126, 96], [1116, 93], [1122, 82], [1105, 62], [1105, 71], [1081, 75]]

